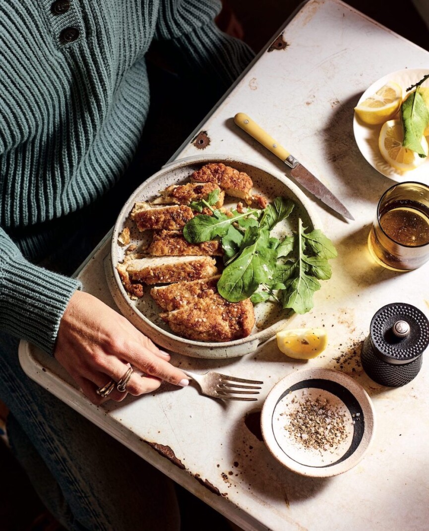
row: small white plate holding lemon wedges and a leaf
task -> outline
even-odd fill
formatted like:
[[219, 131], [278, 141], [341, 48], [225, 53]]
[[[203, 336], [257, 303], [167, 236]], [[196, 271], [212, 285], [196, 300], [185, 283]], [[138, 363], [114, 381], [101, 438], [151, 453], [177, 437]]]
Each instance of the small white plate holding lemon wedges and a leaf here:
[[[406, 95], [407, 88], [411, 87], [415, 83], [418, 83], [425, 75], [429, 74], [427, 68], [407, 68], [406, 70], [398, 70], [385, 75], [383, 78], [375, 81], [368, 87], [361, 98], [358, 101], [360, 104], [366, 98], [375, 94], [375, 92], [387, 83], [388, 81], [394, 81], [402, 87], [403, 96]], [[423, 87], [429, 87], [429, 79], [427, 79]], [[429, 160], [426, 161], [416, 169], [409, 172], [399, 172], [392, 168], [381, 156], [379, 150], [379, 134], [382, 124], [380, 125], [367, 125], [364, 124], [357, 116], [356, 113], [353, 118], [353, 132], [355, 140], [359, 150], [364, 158], [375, 168], [378, 172], [389, 177], [393, 181], [415, 181], [418, 183], [429, 184]]]

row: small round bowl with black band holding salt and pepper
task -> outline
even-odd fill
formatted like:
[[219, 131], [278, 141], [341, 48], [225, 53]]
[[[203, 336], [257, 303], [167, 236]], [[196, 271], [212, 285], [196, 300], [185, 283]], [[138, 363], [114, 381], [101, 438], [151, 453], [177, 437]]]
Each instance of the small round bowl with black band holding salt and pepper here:
[[295, 371], [269, 392], [261, 430], [273, 457], [289, 470], [336, 476], [363, 458], [374, 433], [374, 409], [363, 387], [340, 371]]

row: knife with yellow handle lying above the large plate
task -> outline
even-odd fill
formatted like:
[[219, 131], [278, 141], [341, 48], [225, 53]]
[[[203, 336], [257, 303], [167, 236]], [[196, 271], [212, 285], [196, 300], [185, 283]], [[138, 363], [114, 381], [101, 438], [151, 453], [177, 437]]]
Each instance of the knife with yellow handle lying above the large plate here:
[[243, 131], [253, 136], [255, 140], [261, 143], [265, 148], [269, 149], [274, 155], [279, 157], [282, 161], [291, 168], [290, 175], [301, 184], [308, 192], [311, 192], [316, 198], [327, 204], [336, 212], [348, 219], [355, 219], [344, 204], [334, 196], [334, 194], [327, 189], [327, 187], [319, 181], [312, 173], [310, 173], [295, 157], [290, 155], [284, 147], [282, 147], [277, 140], [274, 140], [262, 127], [254, 122], [247, 114], [237, 113], [234, 116], [234, 122], [241, 127]]

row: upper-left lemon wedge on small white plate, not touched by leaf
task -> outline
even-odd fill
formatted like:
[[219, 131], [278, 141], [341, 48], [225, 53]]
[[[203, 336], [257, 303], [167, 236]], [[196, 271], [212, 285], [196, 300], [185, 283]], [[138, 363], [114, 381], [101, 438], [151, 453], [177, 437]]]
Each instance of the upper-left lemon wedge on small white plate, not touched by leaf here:
[[366, 124], [376, 125], [393, 118], [402, 103], [402, 88], [389, 81], [377, 92], [355, 107], [355, 112]]

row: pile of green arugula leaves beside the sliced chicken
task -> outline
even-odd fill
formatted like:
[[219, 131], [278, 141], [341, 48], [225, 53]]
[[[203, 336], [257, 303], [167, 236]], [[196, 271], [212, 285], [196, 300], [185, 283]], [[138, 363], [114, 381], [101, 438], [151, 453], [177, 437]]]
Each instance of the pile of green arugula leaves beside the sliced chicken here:
[[321, 230], [306, 232], [301, 218], [296, 233], [281, 240], [270, 235], [293, 211], [293, 201], [277, 197], [262, 212], [235, 210], [229, 217], [209, 201], [201, 203], [212, 215], [195, 216], [183, 234], [190, 243], [221, 238], [225, 268], [217, 287], [222, 297], [229, 302], [250, 298], [254, 304], [273, 299], [296, 313], [312, 309], [319, 280], [331, 277], [328, 260], [337, 251]]

